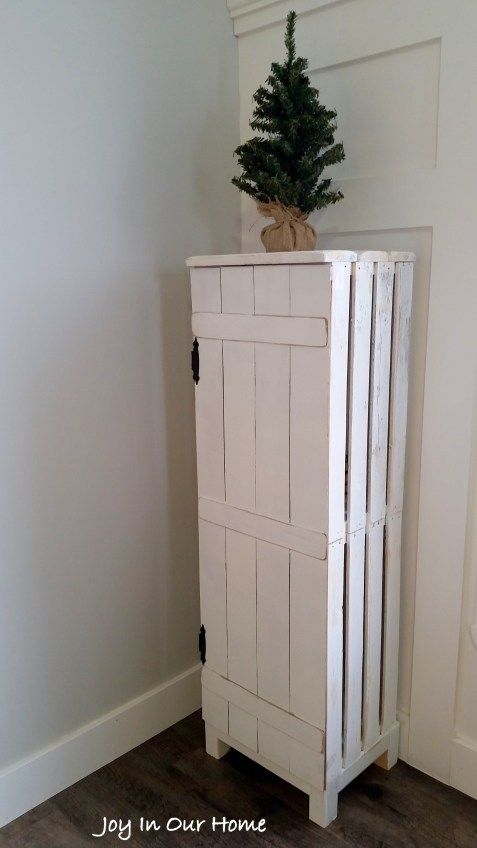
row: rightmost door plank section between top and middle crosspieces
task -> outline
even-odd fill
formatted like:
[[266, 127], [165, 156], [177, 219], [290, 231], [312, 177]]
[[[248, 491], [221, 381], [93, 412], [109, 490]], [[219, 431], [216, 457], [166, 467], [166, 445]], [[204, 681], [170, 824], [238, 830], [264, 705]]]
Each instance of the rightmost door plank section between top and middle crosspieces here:
[[328, 350], [292, 347], [290, 520], [323, 533], [328, 527], [328, 398]]

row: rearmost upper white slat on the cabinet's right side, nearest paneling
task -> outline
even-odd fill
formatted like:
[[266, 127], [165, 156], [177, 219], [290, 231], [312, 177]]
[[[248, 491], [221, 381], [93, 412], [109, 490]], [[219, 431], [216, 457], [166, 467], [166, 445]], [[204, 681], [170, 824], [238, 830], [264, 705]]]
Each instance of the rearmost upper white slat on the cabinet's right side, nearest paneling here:
[[387, 512], [403, 505], [406, 454], [409, 346], [411, 340], [412, 272], [410, 263], [397, 263], [394, 282], [389, 408]]

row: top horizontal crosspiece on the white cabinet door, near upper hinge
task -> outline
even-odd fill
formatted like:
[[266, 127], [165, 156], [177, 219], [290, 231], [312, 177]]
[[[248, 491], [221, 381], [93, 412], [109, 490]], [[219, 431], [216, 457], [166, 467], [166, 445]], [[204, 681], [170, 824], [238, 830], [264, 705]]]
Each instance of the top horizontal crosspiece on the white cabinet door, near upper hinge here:
[[233, 315], [195, 312], [192, 332], [198, 338], [235, 342], [326, 347], [325, 318], [288, 318], [269, 315]]

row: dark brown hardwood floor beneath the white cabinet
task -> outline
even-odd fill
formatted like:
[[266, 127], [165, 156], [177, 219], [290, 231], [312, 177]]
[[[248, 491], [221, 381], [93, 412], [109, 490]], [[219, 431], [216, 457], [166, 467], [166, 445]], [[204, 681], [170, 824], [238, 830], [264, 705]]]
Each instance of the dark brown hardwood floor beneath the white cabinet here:
[[[0, 830], [0, 848], [245, 846], [245, 848], [477, 848], [477, 801], [398, 763], [371, 766], [341, 794], [326, 830], [308, 820], [308, 798], [231, 751], [204, 751], [195, 713]], [[212, 818], [266, 819], [265, 833], [213, 832]], [[103, 838], [104, 817], [131, 820], [131, 836]], [[200, 832], [167, 832], [169, 819], [205, 820]], [[157, 832], [141, 832], [154, 819]]]

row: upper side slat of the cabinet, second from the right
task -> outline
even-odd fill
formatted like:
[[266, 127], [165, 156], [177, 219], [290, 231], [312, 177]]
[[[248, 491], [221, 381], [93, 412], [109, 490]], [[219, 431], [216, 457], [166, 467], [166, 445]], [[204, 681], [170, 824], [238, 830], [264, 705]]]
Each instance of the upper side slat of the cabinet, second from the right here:
[[386, 515], [393, 278], [392, 262], [376, 263], [368, 449], [368, 520], [371, 523], [381, 521]]

